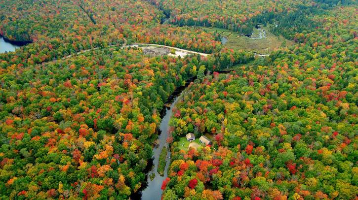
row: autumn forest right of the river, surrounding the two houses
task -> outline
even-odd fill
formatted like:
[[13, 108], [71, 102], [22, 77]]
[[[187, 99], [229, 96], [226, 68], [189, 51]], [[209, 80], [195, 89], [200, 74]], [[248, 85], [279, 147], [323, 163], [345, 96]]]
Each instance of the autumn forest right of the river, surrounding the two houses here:
[[[300, 45], [192, 84], [171, 119], [164, 200], [357, 198], [355, 10], [317, 16]], [[187, 133], [213, 144], [180, 150]]]

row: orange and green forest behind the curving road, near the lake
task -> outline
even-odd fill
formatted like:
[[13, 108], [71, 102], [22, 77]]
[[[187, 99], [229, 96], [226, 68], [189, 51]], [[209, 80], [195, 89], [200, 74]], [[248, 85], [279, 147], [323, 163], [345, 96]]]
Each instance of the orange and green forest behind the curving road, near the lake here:
[[[33, 41], [19, 49], [16, 56], [9, 53], [0, 55], [0, 59], [27, 66], [58, 60], [82, 50], [133, 42], [204, 53], [220, 50], [221, 43], [212, 34], [160, 25], [163, 14], [149, 2], [108, 0], [106, 6], [96, 3], [99, 2], [86, 5], [80, 0], [0, 1], [0, 34], [9, 40]], [[94, 8], [101, 10], [97, 12]], [[12, 62], [14, 57], [16, 61]]]

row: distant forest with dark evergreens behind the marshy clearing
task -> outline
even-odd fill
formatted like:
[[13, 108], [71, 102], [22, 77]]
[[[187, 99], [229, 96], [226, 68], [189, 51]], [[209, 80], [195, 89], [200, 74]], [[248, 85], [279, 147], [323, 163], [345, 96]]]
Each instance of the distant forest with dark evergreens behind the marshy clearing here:
[[294, 33], [312, 30], [317, 25], [315, 14], [340, 4], [354, 4], [346, 0], [149, 0], [170, 16], [177, 26], [202, 26], [228, 29], [250, 35], [259, 24], [273, 24], [271, 31], [288, 39]]

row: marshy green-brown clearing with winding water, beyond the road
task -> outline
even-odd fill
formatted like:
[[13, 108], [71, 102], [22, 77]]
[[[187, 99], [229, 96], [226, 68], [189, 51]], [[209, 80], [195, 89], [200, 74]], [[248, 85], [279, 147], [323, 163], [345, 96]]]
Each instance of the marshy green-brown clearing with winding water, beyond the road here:
[[[269, 32], [269, 27], [262, 27], [266, 32], [266, 37], [262, 39], [252, 39], [246, 36], [239, 35], [238, 33], [230, 32], [226, 29], [205, 28], [208, 32], [218, 32], [226, 36], [228, 41], [223, 46], [231, 49], [243, 49], [247, 51], [255, 51], [259, 54], [270, 54], [270, 52], [281, 46], [292, 46], [293, 41], [285, 39], [283, 36], [276, 36]], [[259, 30], [254, 29], [253, 37], [259, 34]], [[256, 36], [255, 36], [256, 35]], [[282, 45], [283, 43], [283, 45]]]

